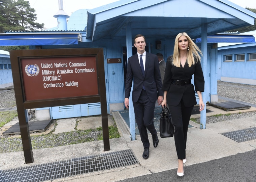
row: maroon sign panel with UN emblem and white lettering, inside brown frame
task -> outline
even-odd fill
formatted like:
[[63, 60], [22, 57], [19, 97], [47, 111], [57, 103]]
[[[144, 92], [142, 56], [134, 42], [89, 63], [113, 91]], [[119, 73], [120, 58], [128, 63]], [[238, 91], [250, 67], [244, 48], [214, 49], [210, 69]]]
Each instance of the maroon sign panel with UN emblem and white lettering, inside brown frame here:
[[98, 95], [96, 58], [21, 59], [26, 100]]

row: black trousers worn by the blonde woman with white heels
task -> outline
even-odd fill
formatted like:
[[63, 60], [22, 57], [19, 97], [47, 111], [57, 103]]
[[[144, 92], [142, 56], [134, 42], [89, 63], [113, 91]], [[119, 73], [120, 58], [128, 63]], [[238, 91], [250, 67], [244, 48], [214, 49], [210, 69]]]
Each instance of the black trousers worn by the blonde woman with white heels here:
[[178, 159], [186, 158], [188, 125], [193, 107], [185, 107], [182, 100], [177, 106], [169, 105], [174, 126], [174, 141]]

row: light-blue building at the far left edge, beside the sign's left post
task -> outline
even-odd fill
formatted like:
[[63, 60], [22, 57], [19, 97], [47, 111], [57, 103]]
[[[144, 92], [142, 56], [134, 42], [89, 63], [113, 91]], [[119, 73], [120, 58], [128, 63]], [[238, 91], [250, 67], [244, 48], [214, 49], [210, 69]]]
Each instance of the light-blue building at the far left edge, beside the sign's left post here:
[[0, 50], [0, 88], [12, 85], [10, 54], [8, 51]]

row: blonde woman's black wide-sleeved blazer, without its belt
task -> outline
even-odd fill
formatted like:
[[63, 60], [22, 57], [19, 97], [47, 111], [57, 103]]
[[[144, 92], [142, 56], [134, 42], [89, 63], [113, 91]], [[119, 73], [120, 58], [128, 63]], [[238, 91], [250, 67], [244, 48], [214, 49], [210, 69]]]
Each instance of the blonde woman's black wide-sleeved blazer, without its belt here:
[[[167, 91], [166, 101], [168, 105], [176, 106], [183, 100], [186, 107], [196, 105], [195, 91], [204, 91], [204, 78], [200, 61], [188, 66], [186, 62], [184, 68], [176, 67], [171, 64], [172, 56], [166, 61], [165, 75], [162, 89]], [[196, 58], [195, 58], [196, 61]], [[171, 83], [171, 80], [188, 80], [194, 75], [194, 85], [179, 86]]]

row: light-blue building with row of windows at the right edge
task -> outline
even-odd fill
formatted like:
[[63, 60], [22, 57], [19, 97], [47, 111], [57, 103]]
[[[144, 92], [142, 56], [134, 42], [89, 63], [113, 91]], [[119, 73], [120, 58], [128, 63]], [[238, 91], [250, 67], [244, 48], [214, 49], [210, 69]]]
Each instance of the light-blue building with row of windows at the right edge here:
[[[253, 35], [256, 30], [239, 35]], [[256, 38], [253, 43], [218, 43], [218, 80], [256, 85]]]

